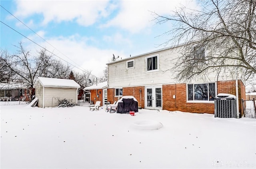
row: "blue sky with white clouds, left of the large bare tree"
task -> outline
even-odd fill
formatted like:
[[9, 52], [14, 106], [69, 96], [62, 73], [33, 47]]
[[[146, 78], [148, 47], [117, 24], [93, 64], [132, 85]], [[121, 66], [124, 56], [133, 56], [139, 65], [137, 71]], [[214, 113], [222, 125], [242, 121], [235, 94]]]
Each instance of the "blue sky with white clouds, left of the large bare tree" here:
[[[159, 44], [168, 36], [160, 35], [172, 24], [156, 25], [150, 11], [168, 15], [180, 4], [196, 7], [189, 0], [1, 0], [0, 4], [49, 44], [2, 7], [1, 22], [97, 77], [112, 54], [127, 58], [165, 47]], [[13, 54], [19, 42], [32, 52], [40, 49], [4, 24], [0, 23], [1, 49]]]

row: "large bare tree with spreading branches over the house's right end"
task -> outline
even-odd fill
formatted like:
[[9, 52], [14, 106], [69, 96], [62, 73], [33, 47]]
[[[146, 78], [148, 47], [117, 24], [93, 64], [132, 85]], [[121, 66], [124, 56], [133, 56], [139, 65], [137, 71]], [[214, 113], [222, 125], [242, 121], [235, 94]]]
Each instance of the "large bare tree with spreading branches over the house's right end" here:
[[173, 24], [170, 31], [162, 34], [170, 38], [161, 45], [184, 45], [175, 65], [176, 78], [184, 81], [206, 77], [212, 72], [236, 78], [241, 70], [245, 80], [253, 78], [256, 74], [256, 1], [198, 2], [198, 10], [182, 6], [171, 11], [170, 16], [152, 12], [157, 24]]

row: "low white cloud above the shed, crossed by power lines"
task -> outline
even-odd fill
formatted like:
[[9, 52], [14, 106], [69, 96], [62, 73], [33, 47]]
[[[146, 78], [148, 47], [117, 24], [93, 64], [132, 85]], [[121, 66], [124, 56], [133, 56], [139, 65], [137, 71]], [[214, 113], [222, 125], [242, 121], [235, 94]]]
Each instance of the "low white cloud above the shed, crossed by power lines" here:
[[[45, 47], [47, 50], [56, 54], [58, 57], [76, 66], [77, 68], [74, 68], [75, 71], [92, 71], [92, 74], [97, 77], [103, 75], [106, 63], [110, 61], [113, 53], [124, 55], [120, 51], [111, 49], [103, 50], [90, 46], [87, 43], [90, 39], [86, 37], [80, 37], [78, 35], [73, 35], [69, 37], [53, 37], [47, 39], [43, 36], [43, 32], [37, 32], [37, 34], [40, 34], [42, 38], [46, 39], [46, 41], [54, 46], [56, 49], [54, 49], [47, 42], [42, 41], [42, 39], [36, 35], [29, 36], [28, 38], [38, 42], [40, 46]], [[40, 47], [38, 47], [36, 44], [31, 43], [28, 40], [23, 40], [23, 42], [26, 42], [24, 43], [24, 45], [26, 45], [25, 48], [28, 50], [36, 51], [40, 49]], [[58, 57], [55, 56], [56, 59], [60, 60]], [[66, 64], [66, 62], [64, 61], [63, 63]]]

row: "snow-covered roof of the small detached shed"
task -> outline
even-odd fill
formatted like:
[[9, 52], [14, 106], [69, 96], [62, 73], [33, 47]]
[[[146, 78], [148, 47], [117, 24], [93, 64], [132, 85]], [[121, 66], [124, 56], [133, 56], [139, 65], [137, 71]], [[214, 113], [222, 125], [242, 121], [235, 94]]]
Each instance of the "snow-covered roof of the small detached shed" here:
[[43, 78], [38, 77], [36, 83], [40, 82], [44, 87], [71, 87], [80, 88], [80, 85], [71, 79]]

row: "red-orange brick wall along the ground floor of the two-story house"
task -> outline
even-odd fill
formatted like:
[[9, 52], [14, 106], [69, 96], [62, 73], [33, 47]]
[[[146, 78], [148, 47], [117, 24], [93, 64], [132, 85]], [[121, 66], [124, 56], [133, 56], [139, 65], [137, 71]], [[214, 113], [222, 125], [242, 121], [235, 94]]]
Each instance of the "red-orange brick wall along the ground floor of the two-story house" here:
[[[217, 82], [217, 94], [228, 93], [236, 95], [236, 81]], [[141, 97], [139, 90], [142, 90]], [[241, 80], [238, 80], [239, 93], [239, 111], [241, 112], [241, 99], [245, 99], [245, 86]], [[108, 89], [108, 101], [113, 103], [118, 100], [114, 97], [114, 89]], [[144, 86], [123, 87], [123, 95], [133, 95], [138, 100], [138, 106], [145, 108]], [[175, 98], [173, 98], [175, 95]], [[212, 113], [214, 114], [214, 103], [187, 103], [186, 84], [162, 85], [162, 108], [168, 111], [185, 111], [191, 113]]]

